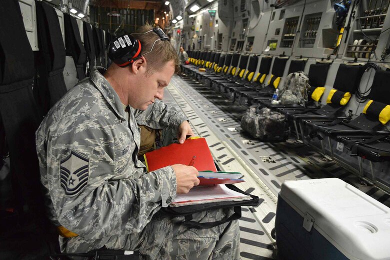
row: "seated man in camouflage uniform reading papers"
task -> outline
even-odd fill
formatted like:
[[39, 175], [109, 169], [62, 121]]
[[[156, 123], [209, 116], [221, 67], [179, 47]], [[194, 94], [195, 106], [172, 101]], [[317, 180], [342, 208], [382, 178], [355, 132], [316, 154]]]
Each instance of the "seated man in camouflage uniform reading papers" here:
[[[146, 51], [156, 39], [152, 33], [138, 38]], [[146, 259], [239, 259], [237, 220], [192, 228], [183, 217], [160, 210], [198, 184], [195, 168], [175, 164], [146, 173], [137, 160], [134, 114], [149, 105], [153, 109], [137, 118], [143, 116], [150, 128], [175, 128], [180, 143], [193, 134], [182, 114], [154, 102], [178, 71], [170, 43], [157, 41], [154, 48], [125, 68], [96, 67], [54, 105], [36, 132], [41, 182], [61, 234], [60, 249], [81, 253], [105, 246], [139, 251]], [[212, 222], [232, 213], [208, 210], [193, 220]]]

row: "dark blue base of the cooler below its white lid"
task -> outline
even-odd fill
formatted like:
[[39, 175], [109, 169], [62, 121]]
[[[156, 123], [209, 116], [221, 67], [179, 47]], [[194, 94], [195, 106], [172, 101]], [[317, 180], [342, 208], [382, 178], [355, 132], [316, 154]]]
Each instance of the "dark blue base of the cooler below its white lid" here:
[[348, 259], [314, 226], [306, 231], [303, 217], [280, 195], [276, 207], [276, 245], [280, 260], [345, 260]]

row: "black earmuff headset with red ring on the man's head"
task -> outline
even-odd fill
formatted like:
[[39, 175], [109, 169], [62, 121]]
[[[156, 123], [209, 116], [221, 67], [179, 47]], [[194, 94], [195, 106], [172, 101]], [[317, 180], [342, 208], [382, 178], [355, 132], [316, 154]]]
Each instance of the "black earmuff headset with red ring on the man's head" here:
[[[156, 35], [158, 35], [159, 39], [154, 41], [150, 51], [148, 51], [147, 53], [153, 50], [155, 42], [160, 40], [169, 41], [169, 38], [165, 35], [161, 28], [154, 28], [150, 31], [147, 31], [146, 33], [141, 34], [147, 34], [149, 32], [154, 32]], [[129, 64], [133, 63], [139, 57], [147, 54], [144, 53], [141, 55], [141, 42], [132, 37], [131, 35], [134, 34], [126, 34], [119, 36], [112, 40], [108, 45], [108, 58], [119, 67], [126, 67]]]

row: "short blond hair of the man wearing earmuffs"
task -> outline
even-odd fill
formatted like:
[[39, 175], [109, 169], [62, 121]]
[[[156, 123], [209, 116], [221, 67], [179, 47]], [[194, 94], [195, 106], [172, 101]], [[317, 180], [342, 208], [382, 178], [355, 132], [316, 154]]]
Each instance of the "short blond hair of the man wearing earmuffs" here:
[[[154, 32], [146, 33], [152, 30], [153, 27], [150, 24], [143, 25], [137, 33], [132, 36], [141, 42], [142, 52], [141, 55], [150, 51], [155, 40], [160, 39]], [[153, 50], [145, 55], [147, 62], [147, 73], [153, 73], [160, 70], [165, 63], [173, 61], [174, 73], [180, 72], [180, 63], [172, 44], [169, 41], [157, 41], [154, 44]]]

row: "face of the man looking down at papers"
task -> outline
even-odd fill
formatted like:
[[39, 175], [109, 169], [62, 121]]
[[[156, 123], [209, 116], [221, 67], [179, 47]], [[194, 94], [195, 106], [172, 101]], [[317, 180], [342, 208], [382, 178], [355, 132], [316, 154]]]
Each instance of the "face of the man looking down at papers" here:
[[154, 99], [161, 100], [166, 87], [174, 73], [173, 61], [166, 62], [161, 69], [146, 75], [142, 72], [137, 82], [137, 97], [134, 99], [135, 109], [145, 110], [154, 103]]

